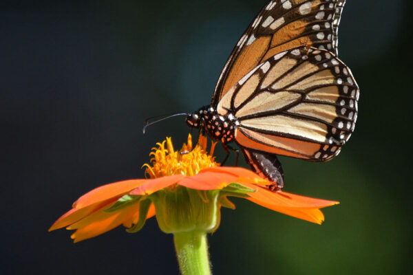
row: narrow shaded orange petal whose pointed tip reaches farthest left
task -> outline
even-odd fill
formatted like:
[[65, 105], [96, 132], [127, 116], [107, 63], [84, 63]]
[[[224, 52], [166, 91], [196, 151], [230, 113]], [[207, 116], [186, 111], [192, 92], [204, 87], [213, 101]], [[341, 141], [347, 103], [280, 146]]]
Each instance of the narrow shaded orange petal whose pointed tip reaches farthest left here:
[[118, 197], [115, 197], [108, 201], [94, 203], [85, 208], [73, 208], [72, 210], [69, 210], [68, 212], [63, 214], [62, 217], [60, 217], [57, 221], [55, 221], [52, 227], [50, 227], [49, 231], [56, 230], [59, 228], [64, 228], [67, 225], [75, 223], [76, 221], [79, 221], [80, 219], [83, 219], [84, 217], [86, 217], [88, 214], [91, 214], [99, 210], [100, 208], [107, 206], [109, 203], [112, 203], [116, 201], [117, 199]]

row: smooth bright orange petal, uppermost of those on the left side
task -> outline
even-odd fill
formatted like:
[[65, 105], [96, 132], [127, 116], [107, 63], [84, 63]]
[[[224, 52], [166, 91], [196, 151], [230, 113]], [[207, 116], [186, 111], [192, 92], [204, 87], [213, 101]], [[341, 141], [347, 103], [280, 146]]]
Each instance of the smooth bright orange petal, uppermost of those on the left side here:
[[125, 195], [130, 190], [150, 180], [151, 179], [129, 179], [100, 186], [87, 192], [75, 201], [73, 203], [73, 208], [83, 208], [99, 201], [105, 201], [106, 199], [112, 199], [113, 197]]

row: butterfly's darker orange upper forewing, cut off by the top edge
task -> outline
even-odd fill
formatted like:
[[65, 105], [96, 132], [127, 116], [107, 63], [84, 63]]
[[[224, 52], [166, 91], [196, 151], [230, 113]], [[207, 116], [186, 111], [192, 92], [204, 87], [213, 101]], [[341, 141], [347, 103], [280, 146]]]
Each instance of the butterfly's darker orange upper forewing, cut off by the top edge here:
[[235, 46], [212, 98], [216, 106], [237, 81], [271, 56], [301, 45], [337, 54], [337, 27], [345, 0], [273, 0]]

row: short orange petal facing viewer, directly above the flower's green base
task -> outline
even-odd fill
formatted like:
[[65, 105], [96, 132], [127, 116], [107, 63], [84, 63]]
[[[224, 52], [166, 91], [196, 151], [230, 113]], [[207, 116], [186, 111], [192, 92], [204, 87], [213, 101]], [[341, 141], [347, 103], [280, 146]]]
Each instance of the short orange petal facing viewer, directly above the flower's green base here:
[[197, 175], [184, 177], [184, 179], [178, 181], [178, 184], [198, 190], [216, 190], [224, 188], [228, 184], [231, 184], [231, 182], [235, 182], [237, 178], [237, 175], [232, 175], [231, 173], [223, 173], [220, 171], [205, 172], [202, 170], [202, 172]]

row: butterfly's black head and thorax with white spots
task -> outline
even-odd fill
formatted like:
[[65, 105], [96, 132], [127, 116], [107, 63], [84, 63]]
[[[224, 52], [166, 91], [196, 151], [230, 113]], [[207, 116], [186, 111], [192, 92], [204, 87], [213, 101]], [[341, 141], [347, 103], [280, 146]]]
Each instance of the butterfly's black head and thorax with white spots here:
[[220, 140], [224, 144], [233, 140], [235, 129], [240, 125], [233, 113], [220, 115], [209, 106], [204, 106], [195, 113], [189, 113], [186, 121], [190, 127], [202, 128], [213, 140]]

